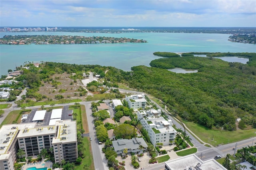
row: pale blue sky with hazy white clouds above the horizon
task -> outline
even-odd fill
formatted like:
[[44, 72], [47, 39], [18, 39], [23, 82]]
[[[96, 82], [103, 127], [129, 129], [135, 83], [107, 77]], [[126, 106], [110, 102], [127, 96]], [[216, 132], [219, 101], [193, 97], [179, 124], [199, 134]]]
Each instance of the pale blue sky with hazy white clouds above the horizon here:
[[0, 26], [256, 27], [256, 0], [0, 0]]

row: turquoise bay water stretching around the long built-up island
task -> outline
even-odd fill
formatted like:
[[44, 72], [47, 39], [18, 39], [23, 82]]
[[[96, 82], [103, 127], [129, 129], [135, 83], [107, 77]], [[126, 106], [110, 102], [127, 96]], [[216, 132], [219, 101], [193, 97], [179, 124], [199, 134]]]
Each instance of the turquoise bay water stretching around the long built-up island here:
[[256, 45], [228, 41], [230, 34], [186, 33], [73, 33], [26, 32], [4, 35], [73, 35], [126, 37], [147, 40], [148, 43], [70, 44], [70, 45], [0, 45], [0, 75], [25, 61], [54, 61], [76, 64], [98, 64], [129, 71], [132, 66], [146, 65], [160, 57], [156, 51], [166, 52], [256, 52]]

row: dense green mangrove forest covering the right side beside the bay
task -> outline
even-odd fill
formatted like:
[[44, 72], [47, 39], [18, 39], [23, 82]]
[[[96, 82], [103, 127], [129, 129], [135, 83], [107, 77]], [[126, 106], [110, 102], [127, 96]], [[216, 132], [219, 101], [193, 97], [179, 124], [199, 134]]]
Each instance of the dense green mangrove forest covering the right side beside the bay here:
[[[256, 127], [256, 67], [190, 56], [156, 59], [150, 65], [132, 67], [128, 85], [162, 99], [174, 114], [208, 128], [235, 130], [238, 117]], [[198, 73], [167, 70], [174, 67]]]

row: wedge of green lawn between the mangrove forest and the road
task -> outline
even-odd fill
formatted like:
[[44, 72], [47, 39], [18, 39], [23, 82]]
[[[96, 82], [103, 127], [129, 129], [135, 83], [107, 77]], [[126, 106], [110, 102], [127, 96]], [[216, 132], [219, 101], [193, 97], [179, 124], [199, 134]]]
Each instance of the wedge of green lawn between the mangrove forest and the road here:
[[[247, 139], [250, 137], [256, 136], [255, 129], [249, 130], [235, 130], [235, 131], [226, 131], [226, 130], [213, 130], [202, 125], [198, 125], [196, 123], [184, 121], [183, 123], [194, 132], [199, 138], [201, 138], [204, 142], [212, 144], [216, 146], [218, 144], [227, 144], [240, 141], [243, 139]], [[213, 135], [214, 141], [208, 141]]]

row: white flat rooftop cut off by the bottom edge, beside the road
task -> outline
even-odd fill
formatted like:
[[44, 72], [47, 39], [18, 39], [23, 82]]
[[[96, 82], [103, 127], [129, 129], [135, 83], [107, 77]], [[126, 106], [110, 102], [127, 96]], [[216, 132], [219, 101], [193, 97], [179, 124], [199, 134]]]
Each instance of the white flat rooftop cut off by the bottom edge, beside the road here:
[[216, 160], [202, 161], [195, 154], [164, 162], [164, 170], [227, 170]]

